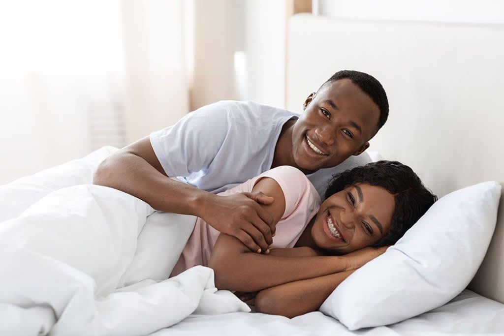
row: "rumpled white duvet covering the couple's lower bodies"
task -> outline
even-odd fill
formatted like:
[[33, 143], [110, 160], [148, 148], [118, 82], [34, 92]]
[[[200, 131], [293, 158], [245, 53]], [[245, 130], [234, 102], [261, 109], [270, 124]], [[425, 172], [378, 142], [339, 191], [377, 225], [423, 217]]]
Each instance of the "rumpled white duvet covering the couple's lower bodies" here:
[[195, 218], [89, 184], [113, 151], [0, 187], [0, 334], [141, 335], [249, 311], [210, 268], [167, 279]]

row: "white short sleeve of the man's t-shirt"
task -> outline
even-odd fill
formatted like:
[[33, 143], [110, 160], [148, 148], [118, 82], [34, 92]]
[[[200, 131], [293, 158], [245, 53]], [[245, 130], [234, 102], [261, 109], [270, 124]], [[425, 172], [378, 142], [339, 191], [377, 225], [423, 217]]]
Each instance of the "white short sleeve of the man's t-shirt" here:
[[230, 117], [229, 102], [221, 101], [151, 133], [152, 148], [166, 174], [188, 176], [208, 168], [227, 136]]

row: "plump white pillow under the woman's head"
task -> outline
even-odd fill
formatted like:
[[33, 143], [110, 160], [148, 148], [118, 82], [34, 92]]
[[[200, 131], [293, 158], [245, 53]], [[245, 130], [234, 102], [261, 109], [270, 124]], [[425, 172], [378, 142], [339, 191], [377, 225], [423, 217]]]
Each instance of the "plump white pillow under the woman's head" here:
[[350, 330], [396, 323], [439, 307], [476, 274], [495, 228], [497, 182], [440, 198], [399, 241], [354, 272], [320, 310]]

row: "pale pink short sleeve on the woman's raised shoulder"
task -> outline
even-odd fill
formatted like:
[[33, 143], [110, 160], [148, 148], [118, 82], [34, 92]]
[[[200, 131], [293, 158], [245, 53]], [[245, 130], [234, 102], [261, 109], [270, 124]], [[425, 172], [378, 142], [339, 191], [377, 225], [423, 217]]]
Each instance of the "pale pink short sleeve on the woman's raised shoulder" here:
[[[280, 166], [264, 172], [259, 177], [273, 178], [282, 188], [285, 196], [285, 212], [282, 219], [292, 215], [299, 207], [317, 204], [319, 200], [311, 182], [297, 168]], [[301, 203], [303, 204], [301, 205]]]

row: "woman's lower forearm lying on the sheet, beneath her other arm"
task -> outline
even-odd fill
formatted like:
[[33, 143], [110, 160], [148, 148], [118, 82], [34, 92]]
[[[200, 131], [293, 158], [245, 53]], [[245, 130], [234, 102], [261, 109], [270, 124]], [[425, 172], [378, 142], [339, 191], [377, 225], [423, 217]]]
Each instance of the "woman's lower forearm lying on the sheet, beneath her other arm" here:
[[255, 300], [256, 311], [289, 318], [316, 311], [355, 270], [295, 281], [262, 290]]

